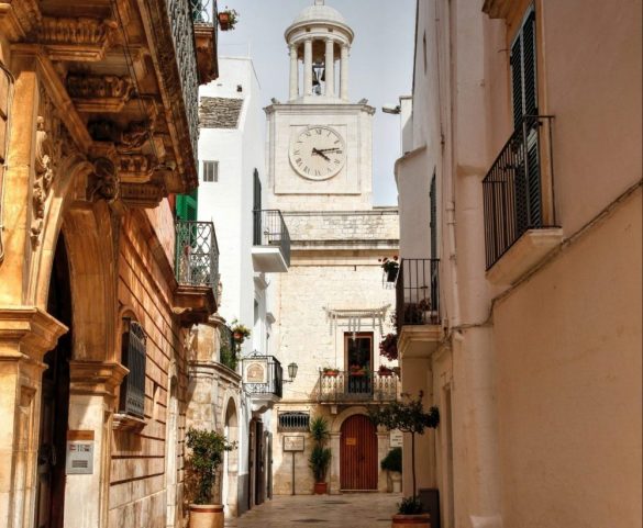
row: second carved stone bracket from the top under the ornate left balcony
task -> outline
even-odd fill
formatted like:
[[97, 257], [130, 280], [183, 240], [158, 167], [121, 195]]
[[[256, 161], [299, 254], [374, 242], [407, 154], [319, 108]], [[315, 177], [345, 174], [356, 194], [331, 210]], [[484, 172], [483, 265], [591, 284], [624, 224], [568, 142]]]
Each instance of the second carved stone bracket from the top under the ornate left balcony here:
[[79, 112], [121, 112], [134, 93], [130, 77], [114, 75], [67, 77], [67, 91]]

